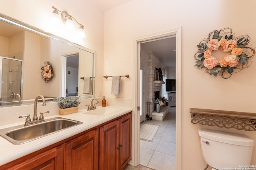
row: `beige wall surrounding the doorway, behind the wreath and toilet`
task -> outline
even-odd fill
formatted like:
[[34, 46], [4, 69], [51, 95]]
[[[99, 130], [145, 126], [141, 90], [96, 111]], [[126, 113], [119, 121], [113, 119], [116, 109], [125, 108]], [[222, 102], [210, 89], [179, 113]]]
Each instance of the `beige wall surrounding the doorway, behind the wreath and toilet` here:
[[[246, 132], [194, 125], [189, 109], [204, 108], [256, 113], [256, 60], [230, 79], [205, 74], [194, 67], [196, 45], [212, 30], [230, 27], [236, 36], [248, 34], [256, 47], [254, 0], [132, 0], [105, 12], [104, 73], [133, 73], [135, 39], [182, 27], [182, 169], [204, 169], [198, 128], [245, 134], [256, 141], [256, 131]], [[237, 12], [239, 11], [239, 12]], [[131, 98], [133, 77], [122, 88], [122, 97]], [[104, 84], [110, 95], [110, 83]], [[228, 156], [228, 155], [227, 155]], [[252, 165], [256, 164], [256, 146]]]

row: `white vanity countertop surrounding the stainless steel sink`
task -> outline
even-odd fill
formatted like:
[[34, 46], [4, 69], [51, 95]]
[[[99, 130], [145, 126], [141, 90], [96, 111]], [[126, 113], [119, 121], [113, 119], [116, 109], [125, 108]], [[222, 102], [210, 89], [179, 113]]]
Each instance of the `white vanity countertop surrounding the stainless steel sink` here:
[[[104, 115], [97, 115], [97, 111], [101, 111], [104, 108], [110, 109], [110, 112]], [[11, 162], [12, 160], [16, 160], [17, 158], [35, 152], [36, 150], [45, 148], [46, 146], [50, 146], [51, 144], [74, 136], [80, 132], [96, 127], [102, 123], [105, 123], [107, 121], [110, 121], [116, 117], [122, 116], [132, 111], [131, 108], [114, 106], [97, 107], [97, 109], [92, 111], [87, 111], [87, 109], [83, 109], [79, 110], [77, 113], [72, 113], [69, 115], [54, 115], [50, 117], [45, 117], [45, 120], [53, 117], [63, 117], [66, 119], [81, 121], [82, 124], [64, 130], [60, 130], [59, 132], [46, 135], [44, 137], [32, 140], [24, 144], [16, 145], [0, 136], [0, 165]], [[0, 129], [13, 127], [17, 125], [23, 125], [24, 122], [25, 121], [15, 123], [12, 125], [1, 126]]]

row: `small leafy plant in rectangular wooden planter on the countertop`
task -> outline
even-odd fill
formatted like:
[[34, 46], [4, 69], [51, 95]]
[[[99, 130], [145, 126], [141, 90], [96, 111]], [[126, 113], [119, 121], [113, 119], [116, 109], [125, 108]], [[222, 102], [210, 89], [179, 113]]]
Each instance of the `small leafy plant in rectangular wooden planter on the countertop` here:
[[60, 115], [68, 115], [78, 111], [78, 105], [81, 103], [81, 98], [80, 96], [59, 97], [54, 98], [53, 101], [58, 101], [58, 105], [60, 106]]

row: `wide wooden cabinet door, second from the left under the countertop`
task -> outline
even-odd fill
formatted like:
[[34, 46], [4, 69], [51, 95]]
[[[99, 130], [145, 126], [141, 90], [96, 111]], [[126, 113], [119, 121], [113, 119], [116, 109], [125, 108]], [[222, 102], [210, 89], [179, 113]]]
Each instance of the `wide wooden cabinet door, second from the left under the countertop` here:
[[64, 144], [65, 170], [98, 170], [98, 128]]

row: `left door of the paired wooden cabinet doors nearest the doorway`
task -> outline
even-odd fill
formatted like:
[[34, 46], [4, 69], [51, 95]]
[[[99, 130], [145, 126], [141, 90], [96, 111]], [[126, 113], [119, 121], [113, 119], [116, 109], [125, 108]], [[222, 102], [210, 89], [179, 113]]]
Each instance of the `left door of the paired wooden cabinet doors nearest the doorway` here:
[[118, 170], [119, 163], [119, 121], [100, 127], [100, 170]]

